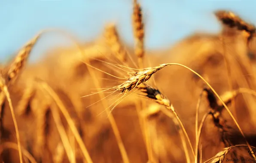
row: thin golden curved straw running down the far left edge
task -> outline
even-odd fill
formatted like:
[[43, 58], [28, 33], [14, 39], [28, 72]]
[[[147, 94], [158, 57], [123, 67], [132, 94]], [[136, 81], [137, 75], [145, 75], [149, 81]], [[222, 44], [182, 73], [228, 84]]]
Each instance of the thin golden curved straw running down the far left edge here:
[[9, 107], [10, 107], [10, 110], [11, 110], [12, 119], [13, 119], [13, 123], [14, 123], [14, 127], [15, 127], [16, 138], [17, 138], [19, 159], [20, 159], [20, 163], [23, 163], [22, 154], [21, 154], [21, 142], [20, 142], [20, 136], [19, 136], [19, 131], [18, 131], [18, 124], [17, 124], [17, 120], [15, 118], [15, 113], [14, 113], [14, 109], [13, 109], [13, 106], [12, 106], [12, 100], [10, 98], [9, 91], [8, 91], [5, 79], [3, 78], [2, 74], [0, 74], [0, 89], [5, 94], [6, 99], [9, 103]]

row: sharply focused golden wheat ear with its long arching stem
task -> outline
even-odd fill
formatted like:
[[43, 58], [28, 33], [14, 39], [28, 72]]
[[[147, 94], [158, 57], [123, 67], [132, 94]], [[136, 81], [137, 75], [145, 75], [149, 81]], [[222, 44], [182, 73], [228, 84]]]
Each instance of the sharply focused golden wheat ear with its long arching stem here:
[[[252, 148], [251, 148], [250, 144], [248, 143], [248, 141], [247, 141], [247, 139], [246, 139], [246, 137], [244, 135], [244, 132], [242, 131], [242, 129], [239, 126], [238, 122], [235, 120], [235, 117], [232, 115], [232, 113], [229, 110], [229, 108], [226, 106], [226, 104], [223, 102], [223, 100], [219, 97], [219, 95], [216, 93], [216, 91], [212, 88], [212, 86], [201, 75], [199, 75], [193, 69], [191, 69], [191, 68], [189, 68], [187, 66], [184, 66], [183, 64], [179, 64], [179, 63], [165, 63], [165, 64], [160, 64], [159, 66], [149, 67], [149, 68], [146, 68], [146, 69], [142, 69], [141, 71], [136, 72], [134, 76], [128, 78], [127, 81], [123, 82], [120, 85], [117, 85], [117, 86], [113, 87], [112, 89], [117, 90], [117, 91], [122, 91], [122, 93], [127, 94], [129, 91], [131, 91], [132, 89], [134, 89], [138, 85], [140, 85], [140, 84], [142, 84], [144, 82], [147, 82], [150, 79], [150, 77], [155, 72], [158, 72], [160, 69], [164, 68], [165, 66], [171, 66], [171, 65], [182, 66], [182, 67], [184, 67], [186, 69], [189, 69], [189, 71], [193, 72], [195, 75], [197, 75], [199, 78], [201, 78], [204, 81], [204, 83], [213, 91], [213, 93], [216, 95], [216, 97], [221, 101], [222, 105], [228, 111], [229, 115], [231, 116], [231, 118], [235, 122], [236, 126], [238, 127], [238, 130], [240, 131], [240, 133], [244, 137], [244, 140], [246, 141], [250, 151], [252, 151]], [[172, 108], [170, 108], [170, 109], [172, 109]], [[255, 157], [254, 154], [253, 154], [253, 156]]]

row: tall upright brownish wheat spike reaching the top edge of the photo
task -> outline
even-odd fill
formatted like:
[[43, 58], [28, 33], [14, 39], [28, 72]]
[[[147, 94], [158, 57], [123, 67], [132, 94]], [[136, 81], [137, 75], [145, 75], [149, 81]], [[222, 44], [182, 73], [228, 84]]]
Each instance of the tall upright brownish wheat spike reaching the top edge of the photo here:
[[137, 0], [134, 0], [132, 24], [135, 38], [135, 54], [142, 60], [144, 56], [144, 24], [141, 6], [137, 3]]

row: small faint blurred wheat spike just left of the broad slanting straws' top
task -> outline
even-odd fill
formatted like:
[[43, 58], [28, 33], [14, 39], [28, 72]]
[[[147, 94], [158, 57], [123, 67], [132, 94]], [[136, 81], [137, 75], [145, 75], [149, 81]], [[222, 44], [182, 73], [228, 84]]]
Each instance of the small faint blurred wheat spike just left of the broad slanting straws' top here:
[[29, 105], [30, 100], [33, 98], [35, 94], [34, 88], [31, 86], [28, 86], [25, 88], [25, 91], [21, 97], [21, 100], [19, 100], [17, 105], [17, 113], [18, 115], [24, 115], [26, 112], [26, 108]]

